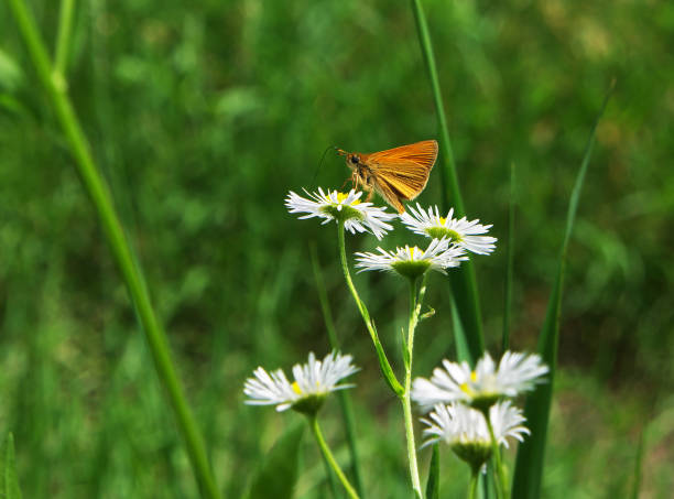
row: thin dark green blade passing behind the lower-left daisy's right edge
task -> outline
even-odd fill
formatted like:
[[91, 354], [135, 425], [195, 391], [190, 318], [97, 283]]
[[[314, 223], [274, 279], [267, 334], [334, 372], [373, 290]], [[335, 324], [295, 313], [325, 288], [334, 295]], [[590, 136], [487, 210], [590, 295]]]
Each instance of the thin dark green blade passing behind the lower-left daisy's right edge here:
[[[314, 280], [316, 281], [316, 290], [318, 291], [318, 301], [320, 302], [320, 310], [323, 311], [323, 319], [325, 322], [325, 328], [328, 333], [330, 346], [334, 349], [339, 348], [339, 339], [337, 338], [337, 332], [335, 322], [333, 321], [333, 313], [330, 312], [330, 305], [328, 303], [328, 295], [325, 289], [325, 281], [323, 280], [323, 273], [320, 272], [320, 265], [318, 262], [318, 254], [316, 252], [316, 246], [309, 245], [309, 252], [312, 256], [312, 267], [314, 269]], [[347, 436], [347, 445], [349, 446], [349, 453], [351, 454], [351, 466], [354, 471], [354, 485], [358, 495], [365, 499], [365, 487], [362, 486], [362, 474], [360, 473], [360, 459], [358, 455], [358, 446], [356, 445], [356, 423], [354, 419], [354, 408], [351, 406], [351, 398], [347, 390], [339, 390], [337, 392], [339, 399], [339, 406], [341, 408], [341, 419], [344, 420], [345, 432]]]

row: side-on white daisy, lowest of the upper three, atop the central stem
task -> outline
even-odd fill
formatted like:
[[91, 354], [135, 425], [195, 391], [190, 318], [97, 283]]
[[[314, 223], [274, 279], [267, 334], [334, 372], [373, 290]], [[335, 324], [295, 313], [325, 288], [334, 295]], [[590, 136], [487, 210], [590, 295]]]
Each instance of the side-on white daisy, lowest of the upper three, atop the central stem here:
[[458, 267], [461, 260], [468, 260], [465, 250], [456, 245], [449, 246], [447, 238], [433, 239], [426, 250], [414, 246], [396, 248], [395, 252], [377, 248], [378, 253], [357, 252], [356, 268], [359, 272], [367, 270], [388, 270], [406, 278], [416, 278], [428, 269], [446, 274], [445, 269]]

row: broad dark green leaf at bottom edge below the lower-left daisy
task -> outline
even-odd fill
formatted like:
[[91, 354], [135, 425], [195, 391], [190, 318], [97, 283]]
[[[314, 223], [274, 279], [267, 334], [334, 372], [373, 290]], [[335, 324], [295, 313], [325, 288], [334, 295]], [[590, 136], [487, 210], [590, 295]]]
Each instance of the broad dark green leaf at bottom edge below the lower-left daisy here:
[[291, 426], [276, 441], [253, 476], [246, 499], [290, 499], [297, 481], [304, 424]]

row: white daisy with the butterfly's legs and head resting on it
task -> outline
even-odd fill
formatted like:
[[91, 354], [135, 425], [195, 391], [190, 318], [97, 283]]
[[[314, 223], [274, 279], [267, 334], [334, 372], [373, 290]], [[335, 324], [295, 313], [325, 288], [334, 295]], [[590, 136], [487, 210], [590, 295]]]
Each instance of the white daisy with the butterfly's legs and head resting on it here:
[[304, 191], [309, 198], [302, 197], [292, 191], [285, 198], [285, 206], [290, 213], [305, 213], [300, 219], [318, 217], [323, 224], [330, 220], [344, 221], [344, 227], [351, 234], [371, 232], [381, 239], [393, 227], [387, 221], [396, 217], [396, 214], [387, 213], [385, 208], [374, 206], [372, 203], [361, 203], [362, 191], [349, 191], [348, 194], [339, 191], [328, 191], [327, 194], [318, 187], [317, 193]]

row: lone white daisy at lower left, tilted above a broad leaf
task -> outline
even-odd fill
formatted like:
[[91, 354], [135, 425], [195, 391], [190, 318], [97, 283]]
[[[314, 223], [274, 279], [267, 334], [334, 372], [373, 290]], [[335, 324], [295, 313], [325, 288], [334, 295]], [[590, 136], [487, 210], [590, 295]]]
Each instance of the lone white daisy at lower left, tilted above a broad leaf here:
[[243, 393], [249, 397], [246, 403], [276, 405], [279, 412], [292, 408], [298, 412], [314, 414], [328, 393], [354, 387], [337, 384], [343, 378], [359, 370], [351, 364], [351, 359], [350, 355], [333, 351], [323, 360], [316, 360], [312, 351], [307, 364], [293, 366], [295, 379], [292, 383], [283, 370], [267, 372], [264, 368], [259, 367], [253, 372], [254, 378], [248, 378], [243, 386]]

